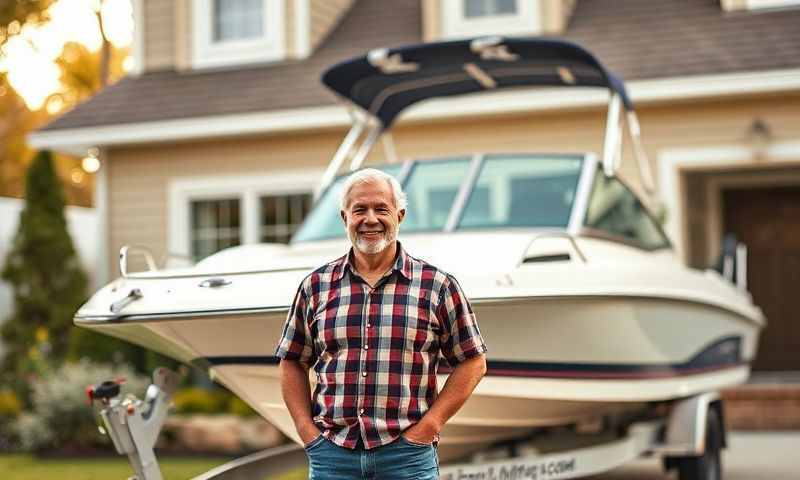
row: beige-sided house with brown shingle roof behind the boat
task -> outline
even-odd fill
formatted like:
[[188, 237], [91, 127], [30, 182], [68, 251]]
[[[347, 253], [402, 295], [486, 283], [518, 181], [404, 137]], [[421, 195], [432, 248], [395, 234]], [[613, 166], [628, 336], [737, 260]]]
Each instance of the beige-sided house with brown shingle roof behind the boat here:
[[[800, 0], [135, 0], [137, 68], [31, 135], [100, 150], [101, 279], [116, 252], [202, 258], [286, 241], [348, 125], [319, 83], [383, 46], [479, 35], [576, 41], [627, 82], [667, 208], [695, 267], [733, 232], [770, 320], [759, 370], [800, 370]], [[401, 157], [598, 151], [605, 96], [499, 92], [421, 105]], [[380, 161], [377, 148], [372, 161]], [[627, 155], [626, 155], [627, 156]], [[623, 176], [637, 182], [626, 158]]]

